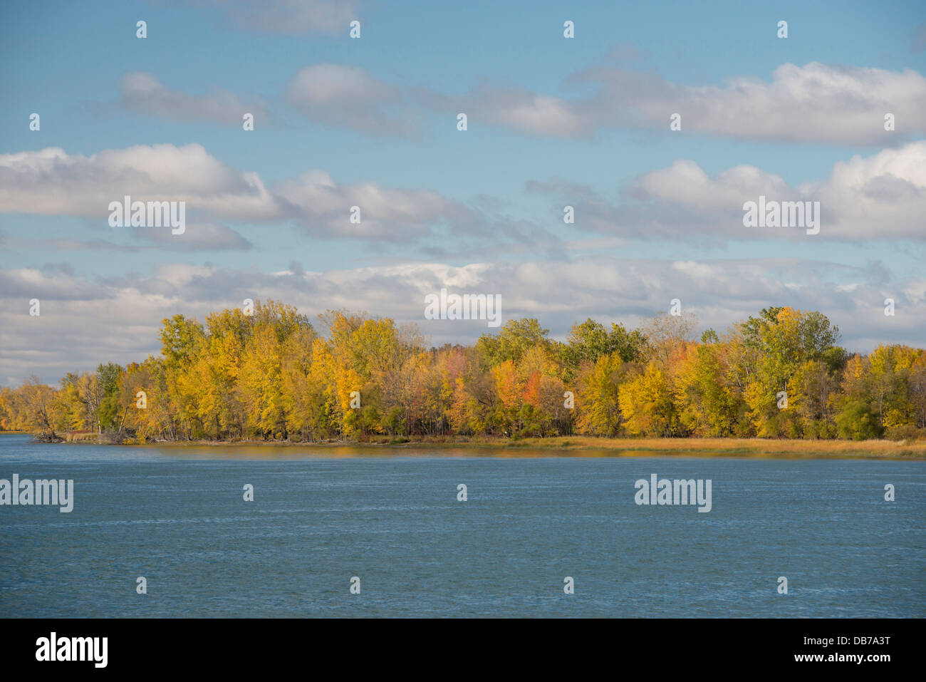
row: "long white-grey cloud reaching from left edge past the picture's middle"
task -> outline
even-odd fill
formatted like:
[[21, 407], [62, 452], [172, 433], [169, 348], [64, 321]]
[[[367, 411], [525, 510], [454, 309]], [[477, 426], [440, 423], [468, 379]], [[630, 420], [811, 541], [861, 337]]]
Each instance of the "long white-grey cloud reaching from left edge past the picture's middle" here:
[[[246, 248], [226, 221], [293, 221], [309, 234], [328, 238], [407, 241], [433, 225], [478, 230], [482, 217], [430, 190], [400, 189], [380, 183], [335, 183], [322, 170], [266, 187], [256, 172], [236, 170], [202, 145], [136, 145], [90, 157], [59, 147], [0, 155], [0, 212], [84, 216], [106, 224], [109, 203], [185, 201], [200, 227], [171, 243], [184, 249]], [[351, 207], [361, 222], [349, 221]], [[150, 229], [149, 229], [150, 230]], [[162, 235], [139, 229], [145, 239]], [[189, 235], [189, 236], [188, 236]], [[181, 241], [188, 242], [181, 246]]]

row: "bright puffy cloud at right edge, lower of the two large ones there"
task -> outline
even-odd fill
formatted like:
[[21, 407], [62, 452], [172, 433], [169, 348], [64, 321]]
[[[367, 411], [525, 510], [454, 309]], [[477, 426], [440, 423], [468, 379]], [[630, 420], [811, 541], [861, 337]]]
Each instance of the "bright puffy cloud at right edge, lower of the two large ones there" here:
[[[826, 179], [797, 186], [755, 166], [709, 175], [693, 160], [680, 159], [636, 178], [621, 202], [558, 180], [528, 183], [527, 189], [574, 205], [582, 230], [635, 239], [926, 240], [926, 141], [839, 161]], [[759, 196], [820, 201], [820, 234], [745, 227], [743, 205]]]

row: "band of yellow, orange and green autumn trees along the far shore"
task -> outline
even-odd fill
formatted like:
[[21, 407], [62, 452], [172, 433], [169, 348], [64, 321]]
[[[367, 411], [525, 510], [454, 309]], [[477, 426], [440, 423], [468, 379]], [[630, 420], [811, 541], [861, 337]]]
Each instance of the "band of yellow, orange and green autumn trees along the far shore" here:
[[121, 443], [926, 436], [921, 348], [850, 354], [826, 316], [787, 307], [698, 340], [695, 324], [589, 319], [559, 342], [525, 318], [428, 347], [415, 324], [338, 310], [313, 324], [258, 301], [164, 320], [143, 362], [0, 389], [0, 429]]

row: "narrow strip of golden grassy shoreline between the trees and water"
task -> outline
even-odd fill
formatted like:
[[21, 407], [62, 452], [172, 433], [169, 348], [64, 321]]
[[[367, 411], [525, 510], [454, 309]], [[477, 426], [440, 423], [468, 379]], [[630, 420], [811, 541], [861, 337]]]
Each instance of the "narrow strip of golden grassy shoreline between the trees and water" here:
[[[13, 433], [13, 432], [0, 432]], [[20, 434], [22, 432], [19, 432]], [[75, 445], [119, 445], [99, 440], [65, 441]], [[926, 440], [786, 440], [770, 438], [597, 438], [593, 436], [555, 436], [547, 438], [416, 439], [405, 442], [376, 441], [272, 441], [272, 440], [182, 440], [129, 444], [136, 448], [354, 448], [372, 453], [401, 452], [432, 448], [437, 450], [494, 449], [503, 456], [544, 456], [554, 451], [581, 456], [695, 456], [739, 458], [810, 459], [891, 459], [926, 460]], [[532, 455], [532, 452], [538, 454]]]

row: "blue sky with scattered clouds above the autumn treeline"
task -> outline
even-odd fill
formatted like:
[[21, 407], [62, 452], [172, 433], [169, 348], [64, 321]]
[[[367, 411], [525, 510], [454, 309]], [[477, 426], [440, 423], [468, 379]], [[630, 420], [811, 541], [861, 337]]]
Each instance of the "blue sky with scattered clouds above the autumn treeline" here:
[[[495, 331], [426, 319], [442, 288], [557, 339], [678, 299], [926, 341], [926, 3], [36, 0], [0, 59], [0, 385], [245, 298]], [[112, 226], [126, 195], [183, 233]], [[745, 226], [759, 196], [819, 233]]]

